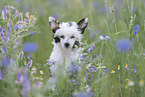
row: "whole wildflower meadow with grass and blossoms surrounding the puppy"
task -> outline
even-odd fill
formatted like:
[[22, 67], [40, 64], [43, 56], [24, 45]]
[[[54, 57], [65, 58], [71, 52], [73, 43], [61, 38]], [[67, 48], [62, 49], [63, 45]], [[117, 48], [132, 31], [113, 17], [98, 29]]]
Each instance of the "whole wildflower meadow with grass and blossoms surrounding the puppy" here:
[[[145, 97], [144, 0], [0, 0], [0, 5], [0, 97]], [[89, 19], [80, 60], [53, 89], [48, 89], [49, 16], [60, 22]]]

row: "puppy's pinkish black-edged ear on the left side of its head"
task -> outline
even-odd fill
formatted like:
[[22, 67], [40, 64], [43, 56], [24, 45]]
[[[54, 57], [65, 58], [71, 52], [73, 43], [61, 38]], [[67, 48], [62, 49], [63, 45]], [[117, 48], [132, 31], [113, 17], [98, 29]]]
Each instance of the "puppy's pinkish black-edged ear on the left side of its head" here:
[[49, 17], [49, 24], [53, 33], [55, 33], [57, 29], [59, 29], [59, 22], [54, 17]]

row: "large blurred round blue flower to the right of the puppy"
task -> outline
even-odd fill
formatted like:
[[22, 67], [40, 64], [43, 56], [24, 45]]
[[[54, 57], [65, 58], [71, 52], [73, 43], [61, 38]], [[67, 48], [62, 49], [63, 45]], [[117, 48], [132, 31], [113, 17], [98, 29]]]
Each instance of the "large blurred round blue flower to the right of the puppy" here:
[[128, 38], [119, 39], [116, 42], [117, 51], [129, 51], [132, 49], [132, 44]]

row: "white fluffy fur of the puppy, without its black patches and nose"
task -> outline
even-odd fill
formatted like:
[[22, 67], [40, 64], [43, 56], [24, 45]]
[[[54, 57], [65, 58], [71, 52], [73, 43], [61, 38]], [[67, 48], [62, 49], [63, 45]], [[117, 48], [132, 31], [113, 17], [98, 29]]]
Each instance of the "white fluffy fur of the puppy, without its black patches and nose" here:
[[[55, 29], [55, 18], [49, 17], [49, 22], [52, 23], [51, 29]], [[88, 19], [84, 20], [82, 27], [87, 25]], [[57, 25], [58, 26], [58, 25]], [[53, 51], [50, 55], [49, 60], [54, 61], [54, 65], [50, 66], [50, 71], [52, 77], [49, 79], [49, 87], [55, 87], [55, 84], [61, 75], [65, 74], [65, 71], [71, 70], [72, 62], [76, 62], [79, 58], [80, 48], [73, 48], [75, 41], [81, 44], [82, 32], [78, 29], [78, 24], [76, 22], [62, 22], [59, 24], [59, 29], [56, 30], [54, 37], [59, 37], [60, 42], [55, 43]], [[85, 29], [85, 28], [84, 28]], [[61, 36], [64, 36], [63, 38]], [[71, 36], [74, 36], [71, 38]], [[66, 48], [65, 43], [69, 43], [69, 47]]]

